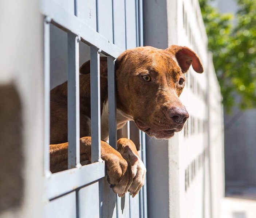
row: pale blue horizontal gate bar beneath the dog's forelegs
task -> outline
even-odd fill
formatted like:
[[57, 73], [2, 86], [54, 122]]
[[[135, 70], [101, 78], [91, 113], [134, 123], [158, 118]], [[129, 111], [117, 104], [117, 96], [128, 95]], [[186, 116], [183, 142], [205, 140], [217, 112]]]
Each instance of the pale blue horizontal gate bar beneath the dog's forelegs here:
[[104, 161], [51, 174], [45, 179], [47, 198], [56, 198], [102, 177], [105, 177]]

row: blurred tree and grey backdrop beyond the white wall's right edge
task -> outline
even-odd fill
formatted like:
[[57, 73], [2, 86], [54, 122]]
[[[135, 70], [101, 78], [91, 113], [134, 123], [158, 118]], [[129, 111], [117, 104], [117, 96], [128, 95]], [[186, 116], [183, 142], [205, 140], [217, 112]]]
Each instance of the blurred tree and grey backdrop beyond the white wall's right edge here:
[[[231, 210], [237, 203], [249, 210], [256, 199], [256, 1], [199, 2], [223, 97], [225, 195]], [[245, 208], [237, 217], [254, 217], [255, 206]]]

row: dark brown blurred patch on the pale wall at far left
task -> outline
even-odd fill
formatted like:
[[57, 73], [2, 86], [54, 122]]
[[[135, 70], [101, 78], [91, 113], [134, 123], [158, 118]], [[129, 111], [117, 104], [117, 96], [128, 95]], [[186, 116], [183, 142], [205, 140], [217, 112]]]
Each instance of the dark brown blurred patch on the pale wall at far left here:
[[15, 85], [0, 85], [0, 213], [20, 207], [24, 181], [21, 102]]

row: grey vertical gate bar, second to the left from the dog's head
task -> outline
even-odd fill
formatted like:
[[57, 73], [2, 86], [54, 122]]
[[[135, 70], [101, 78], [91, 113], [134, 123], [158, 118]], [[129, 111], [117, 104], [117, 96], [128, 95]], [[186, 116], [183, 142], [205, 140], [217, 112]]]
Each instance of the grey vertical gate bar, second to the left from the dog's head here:
[[91, 46], [91, 162], [101, 159], [101, 92], [99, 49]]

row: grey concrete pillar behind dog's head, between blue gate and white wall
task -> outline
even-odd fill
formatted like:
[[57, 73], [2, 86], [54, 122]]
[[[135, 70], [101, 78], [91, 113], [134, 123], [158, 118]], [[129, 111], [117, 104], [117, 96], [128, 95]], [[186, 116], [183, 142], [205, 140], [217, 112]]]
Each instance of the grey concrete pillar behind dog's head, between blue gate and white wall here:
[[[168, 1], [144, 1], [143, 2], [143, 27], [144, 45], [165, 49], [169, 46], [168, 21], [170, 18], [167, 13]], [[176, 4], [176, 1], [173, 1]], [[173, 10], [176, 13], [175, 10]], [[173, 26], [173, 28], [177, 28]], [[177, 44], [177, 31], [173, 32], [173, 43]], [[176, 37], [175, 37], [176, 35]], [[177, 141], [173, 138], [172, 141]], [[170, 140], [171, 141], [171, 140]], [[179, 181], [178, 165], [170, 165], [172, 161], [169, 157], [170, 141], [156, 140], [146, 137], [146, 162], [147, 162], [147, 204], [148, 217], [169, 217], [172, 214], [179, 214], [178, 189]], [[175, 144], [175, 143], [171, 143]], [[173, 146], [170, 155], [174, 159], [178, 158], [178, 147]], [[177, 160], [175, 160], [177, 163]], [[172, 180], [170, 179], [173, 178]], [[170, 196], [177, 198], [177, 201], [170, 199]], [[170, 204], [169, 201], [173, 203]]]

